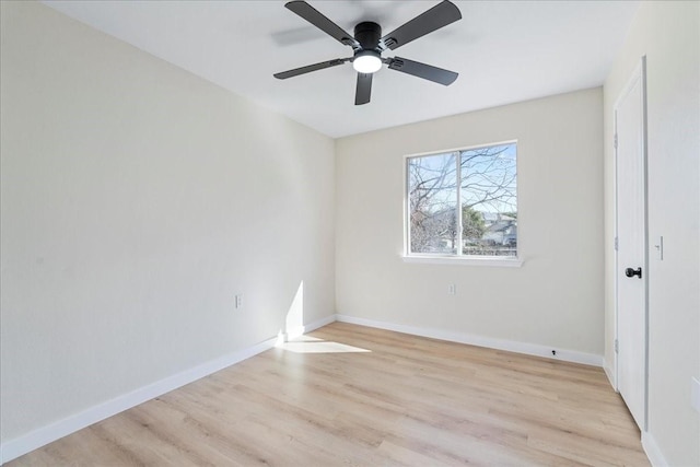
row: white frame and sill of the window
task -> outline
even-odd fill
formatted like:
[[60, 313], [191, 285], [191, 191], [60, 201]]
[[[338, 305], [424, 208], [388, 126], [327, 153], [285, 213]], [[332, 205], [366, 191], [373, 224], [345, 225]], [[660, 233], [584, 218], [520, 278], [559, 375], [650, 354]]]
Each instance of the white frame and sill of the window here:
[[[499, 257], [499, 256], [470, 256], [470, 255], [464, 255], [462, 254], [462, 248], [457, 248], [457, 254], [416, 254], [416, 253], [411, 253], [410, 252], [410, 241], [411, 241], [411, 232], [410, 232], [410, 206], [409, 206], [409, 199], [408, 199], [408, 188], [410, 186], [410, 180], [409, 180], [409, 171], [408, 171], [408, 162], [410, 159], [416, 159], [416, 157], [424, 157], [424, 156], [429, 156], [429, 155], [439, 155], [439, 154], [448, 154], [448, 153], [462, 153], [463, 151], [469, 151], [469, 150], [475, 150], [475, 149], [481, 149], [481, 148], [490, 148], [490, 147], [494, 147], [494, 145], [504, 145], [504, 144], [515, 144], [515, 147], [517, 148], [517, 140], [506, 140], [506, 141], [500, 141], [500, 142], [491, 142], [491, 143], [486, 143], [486, 144], [476, 144], [476, 145], [469, 145], [469, 147], [459, 147], [459, 148], [455, 148], [455, 149], [447, 149], [447, 150], [439, 150], [439, 151], [430, 151], [430, 152], [422, 152], [422, 153], [416, 153], [416, 154], [407, 154], [402, 157], [402, 164], [404, 164], [404, 203], [402, 203], [402, 211], [404, 211], [404, 252], [401, 255], [401, 258], [404, 260], [404, 262], [413, 262], [413, 264], [432, 264], [432, 265], [459, 265], [459, 266], [500, 266], [500, 267], [510, 267], [510, 268], [520, 268], [521, 266], [523, 266], [523, 258], [521, 255], [521, 242], [520, 242], [520, 220], [521, 220], [521, 215], [520, 215], [520, 202], [518, 202], [518, 242], [517, 242], [517, 252], [516, 252], [516, 256], [509, 256], [509, 257]], [[515, 159], [515, 166], [516, 166], [516, 173], [520, 172], [518, 167], [518, 161], [520, 161], [520, 156], [516, 156]], [[462, 179], [462, 164], [457, 163], [457, 173], [456, 173], [456, 177], [458, 180]], [[520, 179], [518, 183], [516, 184], [515, 187], [515, 191], [516, 191], [516, 197], [517, 200], [520, 201]], [[462, 184], [458, 183], [457, 184], [457, 199], [460, 200], [462, 199]], [[462, 215], [457, 215], [457, 230], [458, 232], [462, 232]]]

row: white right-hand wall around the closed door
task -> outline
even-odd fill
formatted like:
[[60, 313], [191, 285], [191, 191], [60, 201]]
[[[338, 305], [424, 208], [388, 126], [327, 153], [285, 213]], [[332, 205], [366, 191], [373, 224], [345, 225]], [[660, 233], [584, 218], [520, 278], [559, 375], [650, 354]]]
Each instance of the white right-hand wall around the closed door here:
[[[700, 465], [700, 3], [642, 2], [605, 82], [606, 362], [615, 339], [612, 109], [646, 56], [649, 164], [649, 433], [672, 466]], [[664, 260], [653, 247], [664, 236]]]

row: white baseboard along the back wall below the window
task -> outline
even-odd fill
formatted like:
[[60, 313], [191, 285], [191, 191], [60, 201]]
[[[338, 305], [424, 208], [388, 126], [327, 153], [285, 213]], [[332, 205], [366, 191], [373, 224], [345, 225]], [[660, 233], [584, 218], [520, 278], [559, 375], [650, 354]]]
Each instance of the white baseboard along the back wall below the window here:
[[[528, 355], [545, 357], [552, 360], [563, 360], [565, 362], [583, 363], [593, 366], [603, 366], [603, 357], [593, 353], [578, 352], [575, 350], [559, 349], [556, 347], [540, 346], [537, 343], [516, 342], [512, 340], [494, 339], [483, 336], [475, 336], [464, 332], [455, 332], [443, 329], [429, 329], [392, 323], [375, 322], [373, 319], [357, 318], [354, 316], [336, 315], [336, 319], [341, 323], [350, 323], [361, 326], [369, 326], [380, 329], [394, 330], [397, 332], [410, 334], [413, 336], [430, 337], [433, 339], [447, 340], [451, 342], [467, 343], [470, 346], [487, 347], [490, 349], [506, 350], [509, 352], [525, 353]], [[551, 351], [557, 354], [552, 355]]]

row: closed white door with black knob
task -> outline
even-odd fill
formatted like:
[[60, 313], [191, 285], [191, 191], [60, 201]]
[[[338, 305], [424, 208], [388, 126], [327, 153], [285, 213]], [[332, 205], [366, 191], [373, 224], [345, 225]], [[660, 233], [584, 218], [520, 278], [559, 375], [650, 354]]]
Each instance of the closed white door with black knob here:
[[617, 189], [617, 387], [646, 430], [645, 60], [615, 105]]

